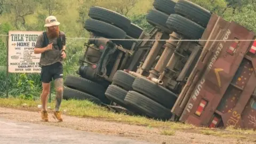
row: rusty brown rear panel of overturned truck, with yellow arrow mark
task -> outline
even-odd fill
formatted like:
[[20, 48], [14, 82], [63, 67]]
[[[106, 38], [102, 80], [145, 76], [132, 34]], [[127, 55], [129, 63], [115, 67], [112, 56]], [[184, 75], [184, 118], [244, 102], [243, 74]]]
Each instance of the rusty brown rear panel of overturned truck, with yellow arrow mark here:
[[[226, 33], [222, 34], [222, 36], [222, 39], [253, 39], [255, 34], [237, 23], [231, 22], [226, 30]], [[247, 65], [244, 65], [243, 63], [245, 54], [247, 49], [249, 49], [251, 42], [239, 42], [239, 46], [235, 54], [231, 55], [227, 53], [227, 50], [232, 43], [233, 42], [231, 41], [223, 41], [218, 43], [218, 47], [215, 48], [216, 51], [212, 54], [213, 57], [209, 65], [207, 65], [206, 70], [204, 70], [204, 75], [196, 86], [197, 89], [194, 90], [193, 94], [190, 94], [189, 102], [187, 103], [187, 106], [180, 117], [180, 121], [187, 121], [188, 123], [196, 125], [199, 124], [209, 126], [211, 124], [213, 115], [220, 115], [222, 122], [226, 127], [230, 125], [230, 116], [238, 117], [240, 115], [239, 118], [241, 118], [241, 114], [243, 114], [243, 110], [256, 87], [256, 77], [253, 73], [252, 64], [247, 62]], [[207, 71], [207, 69], [209, 71]], [[233, 78], [237, 71], [241, 71], [241, 69], [242, 73], [247, 73], [247, 76], [244, 75], [244, 81], [239, 83]], [[240, 78], [241, 77], [242, 75]], [[253, 82], [255, 84], [253, 84]], [[241, 92], [239, 93], [239, 91]], [[206, 100], [208, 103], [205, 106], [201, 116], [197, 116], [195, 115], [195, 111], [197, 110], [201, 99]], [[236, 99], [238, 99], [237, 103], [235, 103]], [[231, 101], [233, 101], [235, 104]], [[231, 107], [234, 108], [231, 110]], [[250, 118], [253, 119], [253, 115]], [[236, 124], [240, 127], [244, 127], [242, 121], [236, 121]]]

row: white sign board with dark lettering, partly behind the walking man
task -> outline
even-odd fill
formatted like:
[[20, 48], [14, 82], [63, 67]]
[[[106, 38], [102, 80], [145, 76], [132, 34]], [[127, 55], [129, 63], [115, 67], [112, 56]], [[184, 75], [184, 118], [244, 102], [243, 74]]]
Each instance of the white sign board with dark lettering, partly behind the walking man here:
[[41, 54], [34, 54], [37, 37], [43, 31], [9, 31], [8, 72], [41, 73]]

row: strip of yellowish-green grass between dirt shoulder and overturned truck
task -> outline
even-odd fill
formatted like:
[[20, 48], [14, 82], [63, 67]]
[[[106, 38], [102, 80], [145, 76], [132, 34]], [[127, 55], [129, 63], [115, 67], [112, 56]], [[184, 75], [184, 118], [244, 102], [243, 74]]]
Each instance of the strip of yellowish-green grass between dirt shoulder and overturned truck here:
[[[26, 103], [26, 106], [24, 106]], [[40, 101], [23, 100], [16, 98], [0, 99], [1, 107], [17, 108], [30, 111], [38, 111], [37, 106], [40, 105]], [[54, 108], [55, 102], [52, 101], [48, 104], [51, 108]], [[107, 108], [94, 105], [89, 101], [78, 101], [78, 100], [63, 100], [61, 104], [61, 110], [66, 115], [78, 116], [78, 117], [90, 117], [102, 119], [105, 121], [122, 122], [134, 125], [143, 125], [149, 127], [161, 128], [161, 134], [163, 135], [174, 135], [176, 130], [197, 132], [205, 135], [215, 135], [218, 137], [231, 137], [244, 139], [247, 135], [255, 135], [256, 132], [253, 130], [236, 130], [232, 127], [228, 127], [225, 130], [220, 129], [208, 129], [204, 127], [196, 127], [190, 124], [174, 123], [170, 121], [156, 121], [141, 116], [130, 116], [127, 114], [117, 114], [109, 111]]]

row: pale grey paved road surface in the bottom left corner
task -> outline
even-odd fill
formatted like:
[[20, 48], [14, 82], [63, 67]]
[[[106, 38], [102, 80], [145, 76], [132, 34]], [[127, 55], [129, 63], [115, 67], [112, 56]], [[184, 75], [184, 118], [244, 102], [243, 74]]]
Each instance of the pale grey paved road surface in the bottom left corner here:
[[[71, 130], [57, 126], [46, 126], [10, 121], [0, 117], [0, 143], [94, 143], [94, 144], [154, 144], [122, 137]], [[15, 134], [14, 134], [15, 133]]]

